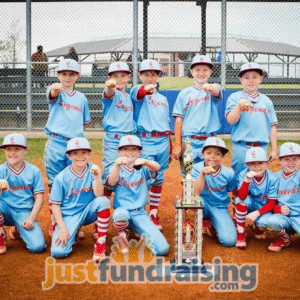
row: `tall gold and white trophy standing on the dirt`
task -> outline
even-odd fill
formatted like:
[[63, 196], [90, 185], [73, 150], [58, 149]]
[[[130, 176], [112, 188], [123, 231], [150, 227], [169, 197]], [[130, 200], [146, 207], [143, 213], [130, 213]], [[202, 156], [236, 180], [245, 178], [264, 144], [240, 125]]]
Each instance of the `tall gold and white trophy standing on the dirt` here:
[[177, 265], [183, 263], [202, 263], [202, 218], [203, 205], [200, 197], [194, 194], [195, 180], [191, 176], [194, 158], [190, 139], [185, 141], [186, 149], [183, 163], [186, 176], [182, 180], [182, 199], [176, 196], [175, 201], [175, 258]]

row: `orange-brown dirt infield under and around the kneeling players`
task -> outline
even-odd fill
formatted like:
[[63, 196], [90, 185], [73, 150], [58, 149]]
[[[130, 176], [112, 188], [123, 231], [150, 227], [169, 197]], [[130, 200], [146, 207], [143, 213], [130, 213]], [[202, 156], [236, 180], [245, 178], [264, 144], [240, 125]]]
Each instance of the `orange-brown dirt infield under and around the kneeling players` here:
[[[100, 164], [100, 157], [91, 161]], [[229, 156], [225, 165], [229, 165]], [[41, 164], [41, 161], [38, 162]], [[37, 163], [37, 165], [38, 165]], [[279, 163], [271, 165], [271, 170], [279, 169]], [[44, 173], [43, 173], [44, 176]], [[170, 244], [166, 261], [174, 256], [174, 204], [176, 194], [181, 192], [179, 163], [172, 161], [166, 172], [163, 187], [160, 218], [163, 232]], [[49, 211], [48, 195], [39, 215], [39, 222], [45, 233], [47, 250], [40, 254], [27, 251], [22, 240], [8, 240], [8, 251], [0, 256], [0, 299], [283, 299], [299, 298], [300, 295], [300, 242], [298, 236], [292, 237], [292, 244], [279, 253], [270, 253], [267, 246], [271, 241], [255, 240], [251, 230], [248, 232], [246, 250], [225, 248], [216, 237], [204, 236], [203, 258], [212, 262], [220, 257], [223, 263], [258, 264], [258, 285], [252, 292], [211, 292], [209, 284], [56, 284], [48, 291], [42, 290], [45, 281], [45, 260], [50, 256], [50, 238], [47, 233]], [[72, 254], [60, 263], [85, 263], [92, 258], [94, 240], [92, 225], [84, 227], [85, 239], [75, 245]], [[115, 232], [110, 226], [108, 246], [112, 244]]]

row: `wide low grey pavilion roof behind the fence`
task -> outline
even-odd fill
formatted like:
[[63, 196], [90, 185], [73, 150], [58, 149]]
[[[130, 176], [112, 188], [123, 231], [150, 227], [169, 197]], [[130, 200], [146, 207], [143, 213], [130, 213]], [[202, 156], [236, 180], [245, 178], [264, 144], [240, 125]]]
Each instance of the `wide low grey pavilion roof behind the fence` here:
[[[91, 55], [104, 53], [130, 53], [133, 49], [132, 38], [108, 39], [90, 42], [80, 42], [65, 47], [57, 48], [47, 52], [49, 57], [64, 56], [68, 53], [70, 46], [74, 46], [77, 54]], [[216, 52], [221, 49], [221, 38], [207, 38], [207, 53]], [[201, 47], [201, 38], [190, 37], [149, 37], [148, 52], [150, 53], [199, 53]], [[138, 48], [143, 50], [143, 39], [138, 39]], [[300, 57], [300, 47], [284, 43], [244, 39], [227, 38], [226, 52], [236, 54], [270, 54], [270, 55], [288, 55]]]

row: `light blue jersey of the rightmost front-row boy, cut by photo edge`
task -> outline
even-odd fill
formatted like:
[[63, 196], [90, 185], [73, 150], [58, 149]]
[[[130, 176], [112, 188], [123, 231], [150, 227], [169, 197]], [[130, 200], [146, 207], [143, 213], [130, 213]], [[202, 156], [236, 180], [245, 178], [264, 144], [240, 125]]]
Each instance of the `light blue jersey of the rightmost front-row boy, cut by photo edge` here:
[[300, 216], [300, 171], [286, 175], [284, 171], [276, 173], [278, 182], [278, 204], [290, 208], [289, 216]]

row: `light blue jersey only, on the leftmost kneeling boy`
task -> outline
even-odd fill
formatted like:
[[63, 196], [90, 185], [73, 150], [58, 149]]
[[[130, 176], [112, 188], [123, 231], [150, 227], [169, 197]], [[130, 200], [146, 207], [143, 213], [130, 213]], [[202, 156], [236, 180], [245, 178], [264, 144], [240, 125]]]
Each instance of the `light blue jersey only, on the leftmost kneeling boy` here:
[[11, 209], [32, 209], [34, 195], [44, 193], [41, 171], [34, 165], [24, 162], [16, 171], [9, 162], [0, 166], [0, 179], [7, 180], [9, 190], [3, 191], [0, 201], [4, 201]]

